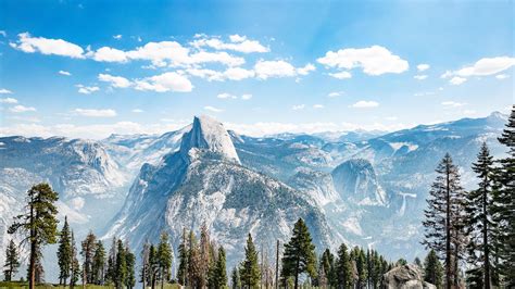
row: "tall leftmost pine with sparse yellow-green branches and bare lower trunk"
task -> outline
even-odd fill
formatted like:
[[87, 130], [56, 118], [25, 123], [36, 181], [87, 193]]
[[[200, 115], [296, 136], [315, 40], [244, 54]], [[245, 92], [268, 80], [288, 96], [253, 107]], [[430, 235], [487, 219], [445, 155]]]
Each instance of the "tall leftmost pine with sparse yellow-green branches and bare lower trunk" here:
[[8, 229], [9, 234], [20, 233], [24, 237], [24, 241], [30, 243], [28, 263], [28, 286], [30, 289], [35, 288], [36, 282], [37, 251], [41, 250], [45, 244], [56, 241], [59, 223], [55, 217], [58, 209], [54, 203], [56, 201], [58, 193], [48, 184], [33, 186], [27, 191], [25, 212], [17, 215]]

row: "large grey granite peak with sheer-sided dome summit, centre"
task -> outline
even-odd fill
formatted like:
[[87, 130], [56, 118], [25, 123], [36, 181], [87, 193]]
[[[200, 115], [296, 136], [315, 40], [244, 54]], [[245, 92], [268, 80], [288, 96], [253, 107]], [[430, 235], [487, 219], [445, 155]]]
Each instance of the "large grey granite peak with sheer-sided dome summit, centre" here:
[[141, 167], [104, 239], [116, 236], [140, 248], [166, 230], [177, 246], [184, 227], [198, 230], [205, 223], [234, 265], [242, 257], [247, 234], [272, 249], [276, 239], [287, 240], [299, 217], [318, 248], [331, 246], [324, 214], [310, 197], [242, 165], [224, 126], [201, 116], [178, 151]]

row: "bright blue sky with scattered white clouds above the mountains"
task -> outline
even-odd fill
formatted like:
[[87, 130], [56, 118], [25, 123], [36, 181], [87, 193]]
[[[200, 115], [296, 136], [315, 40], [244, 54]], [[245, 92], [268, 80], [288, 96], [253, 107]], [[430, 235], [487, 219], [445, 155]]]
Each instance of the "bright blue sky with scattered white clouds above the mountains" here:
[[394, 130], [514, 103], [513, 1], [0, 1], [0, 134]]

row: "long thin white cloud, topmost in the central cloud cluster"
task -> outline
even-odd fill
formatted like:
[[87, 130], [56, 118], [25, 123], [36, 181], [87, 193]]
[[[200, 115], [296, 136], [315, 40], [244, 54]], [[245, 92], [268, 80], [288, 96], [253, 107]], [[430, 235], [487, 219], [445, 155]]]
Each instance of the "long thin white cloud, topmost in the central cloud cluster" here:
[[249, 40], [247, 36], [231, 35], [230, 43], [224, 42], [218, 38], [198, 38], [191, 42], [193, 47], [210, 47], [216, 50], [234, 50], [243, 53], [268, 52], [269, 48], [264, 47], [256, 40]]

